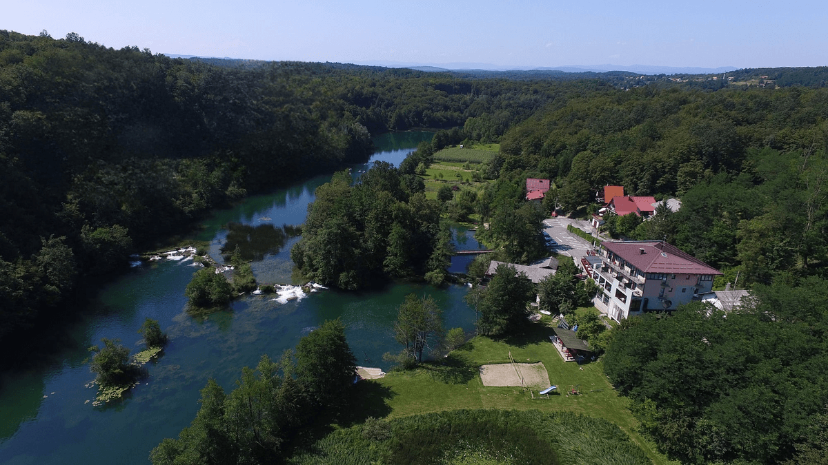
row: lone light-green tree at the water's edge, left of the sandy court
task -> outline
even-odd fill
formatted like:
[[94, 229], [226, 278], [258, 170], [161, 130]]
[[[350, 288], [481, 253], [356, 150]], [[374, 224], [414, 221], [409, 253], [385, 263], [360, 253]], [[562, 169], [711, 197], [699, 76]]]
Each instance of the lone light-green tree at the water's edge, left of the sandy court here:
[[435, 351], [442, 342], [442, 311], [431, 295], [418, 299], [416, 295], [406, 295], [406, 299], [397, 308], [397, 321], [394, 322], [394, 338], [405, 346], [406, 357], [416, 363], [422, 362], [423, 352]]

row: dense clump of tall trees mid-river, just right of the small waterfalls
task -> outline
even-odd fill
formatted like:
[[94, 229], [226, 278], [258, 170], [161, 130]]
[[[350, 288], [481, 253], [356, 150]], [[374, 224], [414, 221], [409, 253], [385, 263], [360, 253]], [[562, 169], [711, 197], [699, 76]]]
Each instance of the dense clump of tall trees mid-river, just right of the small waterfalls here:
[[454, 248], [440, 203], [415, 175], [378, 162], [351, 185], [347, 172], [316, 189], [291, 259], [323, 285], [356, 290], [384, 277], [445, 280]]

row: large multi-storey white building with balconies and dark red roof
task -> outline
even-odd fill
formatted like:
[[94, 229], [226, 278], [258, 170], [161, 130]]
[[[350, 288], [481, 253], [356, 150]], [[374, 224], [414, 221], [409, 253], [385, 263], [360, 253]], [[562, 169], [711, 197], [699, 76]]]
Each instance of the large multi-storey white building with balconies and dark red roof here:
[[663, 241], [604, 241], [595, 257], [590, 277], [600, 291], [593, 302], [615, 321], [699, 300], [722, 274]]

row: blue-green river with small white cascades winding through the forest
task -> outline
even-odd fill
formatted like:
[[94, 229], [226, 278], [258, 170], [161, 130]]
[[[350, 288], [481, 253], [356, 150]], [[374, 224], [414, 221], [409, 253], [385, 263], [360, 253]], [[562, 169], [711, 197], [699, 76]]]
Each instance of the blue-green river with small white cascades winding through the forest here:
[[[428, 132], [402, 132], [375, 138], [373, 161], [399, 165]], [[317, 176], [272, 194], [252, 196], [233, 209], [207, 218], [195, 238], [220, 249], [238, 223], [269, 232], [304, 221], [317, 186], [330, 175]], [[268, 225], [273, 225], [271, 228]], [[459, 249], [479, 247], [473, 233], [455, 227]], [[288, 235], [289, 236], [289, 235]], [[262, 282], [291, 282], [290, 248], [298, 237], [276, 237], [258, 251], [253, 271]], [[469, 256], [452, 261], [463, 271]], [[463, 301], [467, 288], [451, 285], [396, 284], [384, 290], [344, 293], [324, 290], [280, 304], [272, 296], [248, 295], [232, 309], [194, 318], [185, 312], [184, 289], [197, 268], [192, 261], [153, 261], [135, 266], [94, 297], [75, 324], [65, 328], [59, 349], [26, 372], [0, 373], [0, 463], [84, 464], [149, 463], [149, 453], [164, 438], [175, 438], [199, 408], [200, 389], [209, 377], [233, 388], [241, 368], [253, 367], [262, 354], [278, 358], [325, 319], [341, 318], [358, 364], [388, 369], [384, 352], [400, 347], [392, 336], [397, 305], [405, 295], [430, 294], [444, 311], [446, 328], [474, 328], [474, 312]], [[86, 363], [89, 346], [101, 338], [118, 338], [131, 351], [142, 349], [137, 329], [144, 319], [159, 321], [168, 334], [163, 356], [148, 365], [149, 377], [123, 400], [94, 407], [96, 390]], [[7, 356], [5, 354], [4, 356]]]

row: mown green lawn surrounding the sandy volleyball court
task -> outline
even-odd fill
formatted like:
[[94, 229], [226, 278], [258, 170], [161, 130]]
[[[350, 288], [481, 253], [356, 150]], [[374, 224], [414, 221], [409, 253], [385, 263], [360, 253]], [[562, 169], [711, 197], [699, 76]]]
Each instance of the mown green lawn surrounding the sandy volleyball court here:
[[[627, 433], [653, 463], [668, 463], [652, 443], [638, 434], [638, 422], [629, 411], [628, 400], [610, 386], [600, 362], [582, 366], [564, 362], [549, 342], [550, 334], [551, 328], [542, 322], [533, 324], [520, 337], [474, 338], [441, 361], [366, 382], [378, 383], [385, 392], [382, 410], [390, 418], [458, 409], [571, 411], [608, 419]], [[543, 362], [550, 384], [557, 385], [561, 394], [538, 400], [520, 387], [483, 386], [479, 366], [508, 362], [510, 350], [515, 362]], [[570, 386], [579, 386], [581, 395], [567, 396]], [[372, 410], [377, 411], [377, 406]]]

